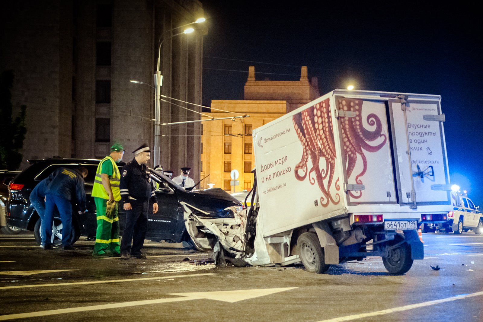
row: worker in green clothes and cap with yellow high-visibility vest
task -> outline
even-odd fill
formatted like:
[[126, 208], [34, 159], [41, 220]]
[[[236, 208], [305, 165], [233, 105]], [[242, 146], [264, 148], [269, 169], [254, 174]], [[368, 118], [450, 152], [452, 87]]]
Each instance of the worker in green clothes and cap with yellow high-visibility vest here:
[[96, 178], [92, 186], [92, 196], [97, 209], [96, 243], [92, 256], [109, 257], [120, 255], [119, 244], [119, 209], [121, 201], [119, 183], [121, 174], [117, 163], [123, 157], [124, 148], [119, 143], [111, 147], [111, 154], [103, 158], [97, 167]]

